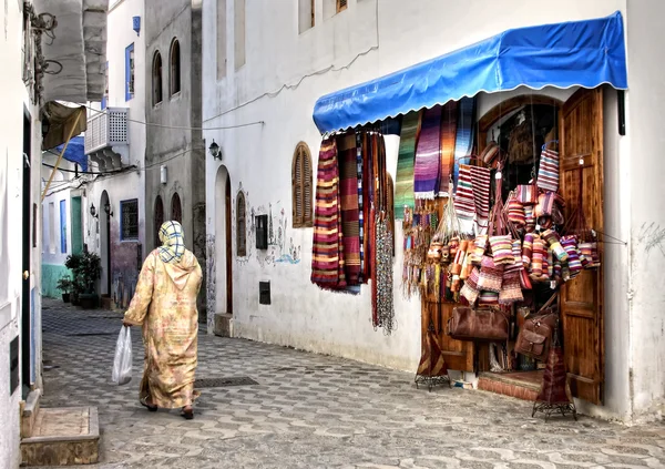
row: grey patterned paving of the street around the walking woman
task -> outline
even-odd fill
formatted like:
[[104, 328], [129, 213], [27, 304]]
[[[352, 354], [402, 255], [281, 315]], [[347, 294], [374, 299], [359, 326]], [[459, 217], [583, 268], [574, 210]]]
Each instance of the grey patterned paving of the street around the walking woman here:
[[135, 379], [110, 383], [120, 318], [44, 302], [42, 405], [99, 408], [100, 468], [665, 467], [664, 424], [545, 424], [524, 401], [461, 388], [430, 394], [410, 374], [205, 335], [197, 379], [258, 385], [202, 389], [192, 421], [151, 414], [136, 397], [139, 329]]

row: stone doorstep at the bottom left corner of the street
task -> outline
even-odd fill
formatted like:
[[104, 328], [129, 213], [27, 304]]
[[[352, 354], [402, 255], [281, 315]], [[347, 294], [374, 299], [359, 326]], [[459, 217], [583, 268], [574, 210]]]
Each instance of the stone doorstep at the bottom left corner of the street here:
[[21, 440], [23, 466], [91, 465], [99, 460], [96, 407], [40, 408], [32, 435]]

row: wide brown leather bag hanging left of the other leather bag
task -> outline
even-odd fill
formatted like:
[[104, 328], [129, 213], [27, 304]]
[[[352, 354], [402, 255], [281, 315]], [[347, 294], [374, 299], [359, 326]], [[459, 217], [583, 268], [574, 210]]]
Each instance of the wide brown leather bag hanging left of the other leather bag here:
[[497, 309], [458, 306], [448, 319], [448, 335], [456, 340], [508, 340], [508, 317]]

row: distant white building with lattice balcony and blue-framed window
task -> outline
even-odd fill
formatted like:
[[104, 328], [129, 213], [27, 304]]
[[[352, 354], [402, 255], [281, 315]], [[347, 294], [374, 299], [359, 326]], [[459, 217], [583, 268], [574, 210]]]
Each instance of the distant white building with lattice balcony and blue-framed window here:
[[113, 40], [106, 48], [105, 94], [101, 104], [91, 105], [85, 132], [90, 172], [95, 174], [85, 185], [83, 232], [88, 248], [102, 259], [103, 304], [126, 307], [151, 239], [144, 224], [145, 171], [150, 171], [143, 167], [144, 1], [111, 1], [108, 21]]

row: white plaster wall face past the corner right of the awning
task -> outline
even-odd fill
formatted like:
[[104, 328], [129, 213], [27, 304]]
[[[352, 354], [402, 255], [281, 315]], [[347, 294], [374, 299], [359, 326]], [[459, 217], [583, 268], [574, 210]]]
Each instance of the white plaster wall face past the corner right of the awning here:
[[[627, 1], [630, 80], [630, 172], [622, 190], [630, 191], [631, 213], [631, 395], [637, 420], [665, 412], [665, 196], [661, 156], [663, 91], [659, 18], [665, 4], [657, 0]], [[626, 161], [628, 163], [628, 161]]]

